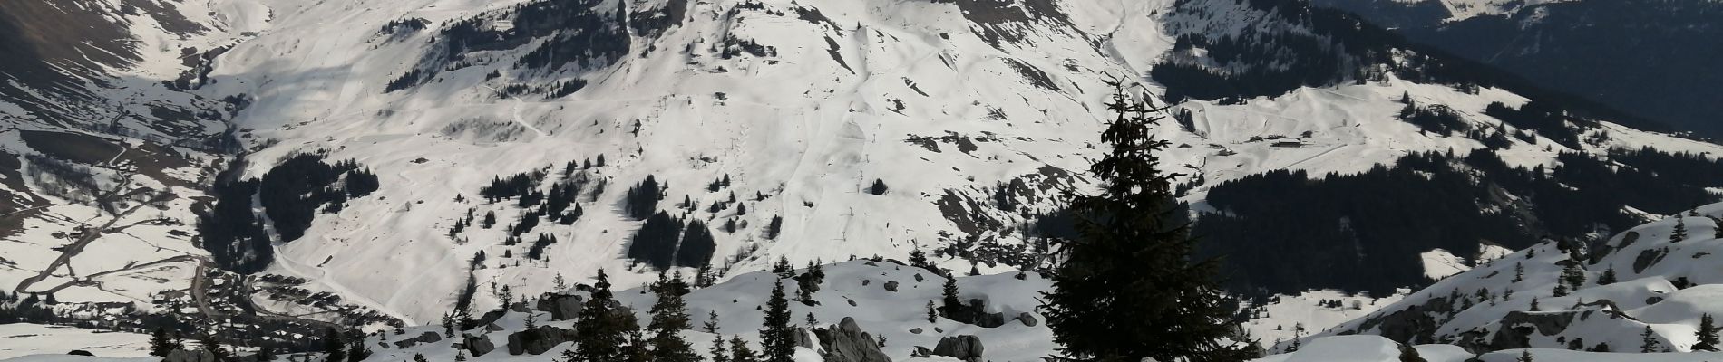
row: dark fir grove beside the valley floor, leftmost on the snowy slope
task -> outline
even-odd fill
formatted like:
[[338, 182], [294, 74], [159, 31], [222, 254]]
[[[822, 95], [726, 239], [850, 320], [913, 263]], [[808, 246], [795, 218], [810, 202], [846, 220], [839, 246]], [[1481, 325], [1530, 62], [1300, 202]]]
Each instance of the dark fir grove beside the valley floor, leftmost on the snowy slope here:
[[[262, 271], [274, 257], [264, 218], [253, 208], [264, 209], [281, 242], [293, 242], [305, 235], [317, 211], [339, 213], [348, 199], [381, 187], [377, 175], [353, 160], [331, 165], [320, 154], [295, 154], [262, 178], [234, 180], [243, 165], [236, 160], [217, 177], [210, 190], [215, 204], [198, 213], [198, 233], [217, 266], [245, 275]], [[252, 204], [253, 196], [257, 206]]]

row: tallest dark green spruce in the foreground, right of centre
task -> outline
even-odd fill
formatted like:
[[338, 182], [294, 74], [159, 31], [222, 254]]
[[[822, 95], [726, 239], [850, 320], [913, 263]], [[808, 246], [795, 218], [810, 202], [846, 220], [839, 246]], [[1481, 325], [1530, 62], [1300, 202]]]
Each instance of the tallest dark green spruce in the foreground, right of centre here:
[[1225, 362], [1251, 359], [1249, 341], [1234, 341], [1232, 305], [1215, 281], [1216, 259], [1196, 259], [1196, 238], [1173, 218], [1172, 180], [1153, 136], [1165, 112], [1149, 96], [1132, 96], [1118, 81], [1106, 108], [1115, 118], [1101, 132], [1111, 146], [1089, 166], [1103, 184], [1077, 196], [1079, 237], [1058, 240], [1065, 261], [1051, 275], [1041, 311], [1068, 360]]

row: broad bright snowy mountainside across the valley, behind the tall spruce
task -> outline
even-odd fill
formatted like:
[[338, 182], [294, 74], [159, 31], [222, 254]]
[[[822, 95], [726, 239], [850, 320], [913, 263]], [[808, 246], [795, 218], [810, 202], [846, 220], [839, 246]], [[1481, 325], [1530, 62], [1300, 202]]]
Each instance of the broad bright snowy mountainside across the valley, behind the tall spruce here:
[[[215, 82], [203, 87], [252, 103], [236, 117], [253, 149], [246, 175], [288, 154], [324, 153], [357, 160], [383, 184], [376, 197], [317, 216], [305, 237], [281, 244], [267, 273], [415, 321], [455, 302], [481, 252], [488, 259], [474, 280], [520, 290], [543, 290], [557, 275], [641, 269], [624, 257], [641, 221], [620, 201], [648, 177], [669, 185], [660, 209], [712, 225], [710, 261], [720, 269], [760, 269], [775, 256], [903, 256], [913, 245], [984, 259], [984, 271], [1027, 268], [1006, 261], [1032, 244], [1013, 225], [1087, 185], [1080, 170], [1103, 118], [1106, 74], [1148, 74], [1175, 34], [1275, 22], [1232, 2], [255, 5], [272, 17], [219, 57]], [[1408, 94], [1489, 127], [1501, 124], [1482, 115], [1489, 103], [1527, 103], [1494, 87], [1473, 94], [1389, 77], [1242, 105], [1189, 101], [1192, 130], [1165, 127], [1161, 137], [1189, 146], [1168, 165], [1210, 184], [1289, 168], [1353, 173], [1413, 151], [1484, 148], [1399, 120], [1396, 101]], [[1608, 122], [1589, 132], [1611, 137], [1568, 149], [1533, 136], [1501, 154], [1530, 166], [1564, 151], [1718, 151]], [[1280, 137], [1299, 142], [1263, 141]], [[600, 158], [601, 166], [565, 172]], [[526, 244], [539, 233], [557, 240], [527, 259], [531, 247], [505, 245], [503, 230], [524, 209], [479, 192], [498, 177], [541, 170], [539, 192], [584, 182], [584, 216], [524, 232]], [[725, 177], [727, 185], [708, 187]], [[875, 180], [884, 194], [870, 190]], [[1201, 201], [1201, 187], [1189, 197]], [[682, 199], [696, 208], [675, 211]], [[488, 213], [498, 218], [493, 228], [451, 233]], [[782, 226], [770, 235], [775, 216]], [[722, 232], [731, 221], [736, 232]], [[477, 305], [488, 304], [479, 295]]]

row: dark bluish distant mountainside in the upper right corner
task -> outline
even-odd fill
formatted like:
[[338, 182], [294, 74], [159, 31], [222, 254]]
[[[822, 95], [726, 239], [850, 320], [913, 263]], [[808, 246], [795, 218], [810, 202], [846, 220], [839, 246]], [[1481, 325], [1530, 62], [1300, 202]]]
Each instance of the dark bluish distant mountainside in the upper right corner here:
[[1447, 21], [1437, 0], [1318, 0], [1397, 27], [1411, 41], [1568, 89], [1637, 117], [1723, 136], [1713, 60], [1723, 57], [1723, 3], [1551, 2]]

